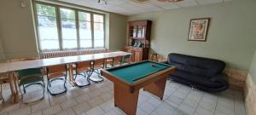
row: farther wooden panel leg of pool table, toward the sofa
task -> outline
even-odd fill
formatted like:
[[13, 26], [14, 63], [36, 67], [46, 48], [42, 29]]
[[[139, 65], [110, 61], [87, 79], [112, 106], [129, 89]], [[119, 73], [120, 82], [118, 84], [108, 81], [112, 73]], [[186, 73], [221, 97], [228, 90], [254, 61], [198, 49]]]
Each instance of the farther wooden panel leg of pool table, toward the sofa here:
[[160, 80], [154, 83], [148, 84], [143, 89], [153, 95], [160, 97], [160, 100], [163, 100], [165, 89], [166, 89], [166, 80], [167, 78], [161, 78]]

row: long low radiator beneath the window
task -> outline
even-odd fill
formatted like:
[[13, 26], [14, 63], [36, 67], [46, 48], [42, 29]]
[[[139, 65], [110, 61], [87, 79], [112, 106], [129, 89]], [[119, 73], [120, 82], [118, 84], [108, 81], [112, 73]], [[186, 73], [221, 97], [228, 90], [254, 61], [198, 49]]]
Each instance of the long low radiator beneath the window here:
[[49, 52], [41, 52], [40, 58], [55, 58], [55, 57], [65, 57], [72, 55], [89, 55], [89, 54], [97, 54], [108, 52], [108, 49], [83, 49], [83, 50], [65, 50], [65, 51], [49, 51]]

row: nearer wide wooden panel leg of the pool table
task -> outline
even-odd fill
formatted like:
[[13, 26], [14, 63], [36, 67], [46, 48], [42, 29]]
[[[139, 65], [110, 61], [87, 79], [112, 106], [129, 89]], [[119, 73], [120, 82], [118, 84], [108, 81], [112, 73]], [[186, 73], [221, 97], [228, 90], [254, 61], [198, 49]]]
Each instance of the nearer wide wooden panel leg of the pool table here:
[[114, 106], [118, 106], [127, 115], [136, 115], [139, 91], [130, 92], [129, 87], [114, 84]]

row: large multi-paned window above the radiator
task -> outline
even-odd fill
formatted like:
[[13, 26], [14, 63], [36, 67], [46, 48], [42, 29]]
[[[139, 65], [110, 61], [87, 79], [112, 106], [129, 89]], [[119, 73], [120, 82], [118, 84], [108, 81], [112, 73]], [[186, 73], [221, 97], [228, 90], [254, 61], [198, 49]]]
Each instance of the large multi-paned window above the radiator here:
[[105, 46], [104, 15], [48, 3], [35, 3], [40, 51]]

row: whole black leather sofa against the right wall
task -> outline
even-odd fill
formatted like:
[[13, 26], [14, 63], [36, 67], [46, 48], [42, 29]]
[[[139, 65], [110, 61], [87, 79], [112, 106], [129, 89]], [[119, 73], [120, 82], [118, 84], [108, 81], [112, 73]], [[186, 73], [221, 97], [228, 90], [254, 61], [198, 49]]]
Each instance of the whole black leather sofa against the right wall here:
[[173, 81], [208, 92], [228, 89], [226, 75], [222, 73], [225, 67], [222, 60], [172, 53], [166, 64], [177, 66], [177, 72], [170, 76]]

